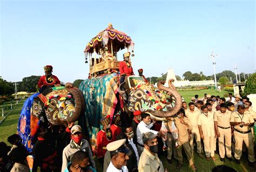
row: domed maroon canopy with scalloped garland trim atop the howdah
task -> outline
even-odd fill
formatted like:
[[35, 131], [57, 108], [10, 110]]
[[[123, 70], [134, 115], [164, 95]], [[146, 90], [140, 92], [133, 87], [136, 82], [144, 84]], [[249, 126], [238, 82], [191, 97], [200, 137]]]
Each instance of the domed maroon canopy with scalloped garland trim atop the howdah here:
[[125, 47], [129, 47], [130, 45], [133, 49], [134, 45], [131, 37], [127, 36], [124, 32], [114, 29], [110, 23], [105, 30], [100, 31], [96, 37], [93, 37], [90, 40], [90, 42], [86, 45], [84, 52], [86, 54], [93, 53], [95, 49], [95, 51], [99, 53], [99, 49], [103, 48], [104, 46], [107, 46], [107, 48], [111, 50], [111, 43], [112, 50], [114, 52], [118, 52]]

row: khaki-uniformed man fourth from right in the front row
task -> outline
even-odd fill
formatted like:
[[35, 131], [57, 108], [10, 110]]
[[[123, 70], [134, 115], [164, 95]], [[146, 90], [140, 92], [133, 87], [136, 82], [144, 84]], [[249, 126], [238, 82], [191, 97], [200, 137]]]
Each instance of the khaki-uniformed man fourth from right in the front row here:
[[204, 158], [203, 154], [201, 153], [201, 138], [200, 138], [200, 133], [198, 129], [198, 118], [200, 116], [200, 112], [194, 110], [193, 102], [190, 102], [188, 104], [188, 107], [189, 109], [185, 111], [185, 113], [192, 125], [191, 138], [190, 138], [190, 146], [192, 149], [192, 153], [194, 152], [194, 137], [195, 137], [197, 141], [197, 153], [201, 158]]

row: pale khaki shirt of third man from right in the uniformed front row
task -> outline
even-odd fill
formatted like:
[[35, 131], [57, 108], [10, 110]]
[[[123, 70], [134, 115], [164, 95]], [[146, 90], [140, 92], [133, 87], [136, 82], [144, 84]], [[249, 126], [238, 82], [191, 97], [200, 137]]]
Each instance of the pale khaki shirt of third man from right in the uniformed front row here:
[[202, 113], [198, 118], [198, 125], [201, 126], [203, 135], [205, 137], [215, 136], [212, 114], [208, 113], [208, 115], [206, 116]]

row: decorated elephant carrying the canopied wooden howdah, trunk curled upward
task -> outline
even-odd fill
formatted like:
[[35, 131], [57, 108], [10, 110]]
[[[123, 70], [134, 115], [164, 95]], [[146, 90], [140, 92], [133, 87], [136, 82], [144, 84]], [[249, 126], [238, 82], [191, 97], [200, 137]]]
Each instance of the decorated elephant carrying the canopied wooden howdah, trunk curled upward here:
[[134, 111], [149, 112], [155, 120], [168, 119], [176, 114], [182, 105], [181, 96], [169, 80], [169, 87], [158, 82], [157, 87], [145, 83], [142, 77], [132, 75], [119, 85], [119, 74], [86, 79], [79, 89], [85, 98], [85, 115], [79, 118], [79, 125], [89, 132], [93, 139], [99, 131], [102, 116]]

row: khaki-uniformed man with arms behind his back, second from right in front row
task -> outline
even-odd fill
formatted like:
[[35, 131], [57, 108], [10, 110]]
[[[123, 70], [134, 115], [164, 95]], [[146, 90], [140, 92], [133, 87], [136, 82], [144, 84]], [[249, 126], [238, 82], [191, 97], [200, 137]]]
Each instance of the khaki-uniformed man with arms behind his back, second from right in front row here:
[[[215, 132], [218, 136], [219, 140], [219, 153], [220, 153], [220, 161], [225, 161], [225, 148], [227, 159], [233, 161], [231, 155], [231, 126], [230, 126], [230, 118], [231, 113], [226, 111], [227, 105], [220, 104], [220, 111], [216, 111], [214, 113], [214, 126]], [[224, 145], [225, 138], [225, 145]]]

